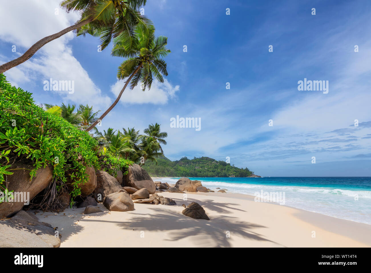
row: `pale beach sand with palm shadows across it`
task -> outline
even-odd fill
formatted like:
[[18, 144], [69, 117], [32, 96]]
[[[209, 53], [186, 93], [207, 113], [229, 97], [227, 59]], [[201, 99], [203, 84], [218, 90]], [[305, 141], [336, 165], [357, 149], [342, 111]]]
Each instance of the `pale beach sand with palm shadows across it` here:
[[[135, 204], [134, 211], [84, 215], [38, 212], [62, 235], [61, 247], [370, 247], [371, 225], [342, 220], [233, 193], [162, 192], [177, 205]], [[198, 202], [210, 221], [183, 215]], [[315, 232], [315, 237], [313, 236]]]

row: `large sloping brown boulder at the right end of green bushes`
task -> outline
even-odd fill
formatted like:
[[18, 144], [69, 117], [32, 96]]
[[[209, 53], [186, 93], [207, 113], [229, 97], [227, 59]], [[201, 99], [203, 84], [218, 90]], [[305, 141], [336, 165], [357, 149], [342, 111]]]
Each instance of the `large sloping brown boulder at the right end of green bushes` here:
[[128, 174], [124, 176], [125, 186], [136, 189], [148, 189], [150, 194], [156, 191], [156, 185], [151, 176], [138, 164], [133, 164], [128, 168]]

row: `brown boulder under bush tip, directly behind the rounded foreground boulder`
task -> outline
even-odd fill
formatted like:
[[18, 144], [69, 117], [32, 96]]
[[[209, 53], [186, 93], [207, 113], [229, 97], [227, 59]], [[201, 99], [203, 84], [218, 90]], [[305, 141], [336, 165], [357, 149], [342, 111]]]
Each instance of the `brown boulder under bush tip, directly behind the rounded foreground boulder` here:
[[107, 172], [99, 171], [97, 173], [97, 185], [93, 194], [98, 201], [104, 201], [106, 196], [118, 192], [122, 189], [120, 183]]

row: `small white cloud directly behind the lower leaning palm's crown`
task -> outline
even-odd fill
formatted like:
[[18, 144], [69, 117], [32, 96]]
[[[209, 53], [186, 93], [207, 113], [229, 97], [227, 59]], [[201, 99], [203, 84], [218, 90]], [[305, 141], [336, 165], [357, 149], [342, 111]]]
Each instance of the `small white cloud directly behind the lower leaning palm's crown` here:
[[[111, 85], [111, 92], [117, 96], [124, 85], [125, 81], [117, 81], [115, 84]], [[137, 85], [132, 90], [128, 85], [120, 101], [123, 104], [166, 104], [169, 98], [175, 98], [175, 92], [177, 91], [179, 91], [179, 85], [173, 87], [167, 79], [165, 79], [163, 83], [154, 80], [151, 89], [146, 89], [144, 92], [140, 85]]]

